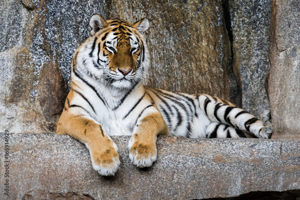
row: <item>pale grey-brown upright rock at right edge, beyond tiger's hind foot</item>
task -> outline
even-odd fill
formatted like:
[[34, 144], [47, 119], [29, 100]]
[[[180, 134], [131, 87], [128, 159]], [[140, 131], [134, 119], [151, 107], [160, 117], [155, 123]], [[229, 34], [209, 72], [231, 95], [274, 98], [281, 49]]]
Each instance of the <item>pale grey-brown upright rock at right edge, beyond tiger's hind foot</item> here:
[[267, 76], [272, 138], [300, 139], [300, 1], [272, 1]]

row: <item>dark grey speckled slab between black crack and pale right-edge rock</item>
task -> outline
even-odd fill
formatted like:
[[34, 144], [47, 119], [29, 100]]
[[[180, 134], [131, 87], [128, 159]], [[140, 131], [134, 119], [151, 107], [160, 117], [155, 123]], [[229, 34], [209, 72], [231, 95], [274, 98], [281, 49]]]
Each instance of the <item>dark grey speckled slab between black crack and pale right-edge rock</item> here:
[[270, 109], [264, 80], [268, 69], [271, 0], [229, 0], [233, 69], [241, 88], [242, 108], [260, 117]]

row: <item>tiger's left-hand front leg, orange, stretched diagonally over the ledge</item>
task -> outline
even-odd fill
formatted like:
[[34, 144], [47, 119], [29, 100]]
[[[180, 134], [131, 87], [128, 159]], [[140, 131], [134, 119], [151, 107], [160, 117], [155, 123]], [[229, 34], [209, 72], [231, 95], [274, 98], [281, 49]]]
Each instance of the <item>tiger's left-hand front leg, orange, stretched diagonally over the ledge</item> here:
[[101, 175], [114, 175], [120, 165], [117, 145], [95, 120], [84, 113], [71, 113], [72, 109], [73, 111], [76, 109], [77, 112], [81, 108], [64, 109], [58, 121], [56, 133], [68, 134], [84, 143], [90, 152], [93, 168]]

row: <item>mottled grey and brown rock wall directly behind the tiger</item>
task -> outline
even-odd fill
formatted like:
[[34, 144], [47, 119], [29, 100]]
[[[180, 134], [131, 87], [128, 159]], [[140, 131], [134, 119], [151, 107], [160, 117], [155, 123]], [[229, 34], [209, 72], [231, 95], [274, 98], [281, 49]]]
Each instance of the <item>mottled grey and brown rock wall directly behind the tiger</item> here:
[[[268, 24], [268, 10], [251, 18], [261, 22], [264, 29], [257, 36], [249, 33], [250, 40], [245, 42], [244, 33], [237, 33], [241, 30], [235, 24], [244, 23], [239, 22], [244, 15], [240, 11], [243, 6], [252, 11], [258, 4], [237, 8], [237, 2], [231, 3], [234, 44], [241, 48], [234, 51], [227, 31], [230, 23], [225, 23], [230, 15], [223, 12], [229, 1], [4, 1], [0, 7], [0, 129], [55, 133], [69, 91], [73, 53], [88, 37], [88, 21], [93, 13], [105, 18], [119, 16], [130, 22], [150, 19], [146, 33], [152, 63], [149, 85], [211, 94], [259, 115], [267, 107], [258, 83], [265, 65], [253, 64], [253, 57], [264, 47], [243, 46], [256, 40], [259, 46], [267, 45], [267, 41], [261, 43], [261, 38], [265, 34], [263, 26]], [[247, 28], [253, 28], [249, 21], [241, 26], [243, 30]], [[251, 59], [246, 58], [246, 52], [250, 52]], [[240, 65], [232, 65], [236, 58]], [[266, 62], [263, 56], [259, 62]], [[253, 70], [255, 76], [251, 76]]]

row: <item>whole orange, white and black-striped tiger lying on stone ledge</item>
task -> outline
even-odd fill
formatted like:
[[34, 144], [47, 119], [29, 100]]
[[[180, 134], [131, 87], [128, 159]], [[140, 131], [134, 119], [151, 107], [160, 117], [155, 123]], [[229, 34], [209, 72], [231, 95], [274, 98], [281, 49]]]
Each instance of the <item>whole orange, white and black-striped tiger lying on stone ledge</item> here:
[[94, 14], [89, 25], [91, 35], [73, 56], [70, 92], [56, 132], [84, 143], [99, 174], [115, 175], [120, 166], [110, 136], [131, 136], [129, 159], [139, 168], [156, 161], [158, 135], [271, 138], [269, 111], [259, 120], [218, 97], [143, 84], [150, 66], [147, 18], [130, 23]]

